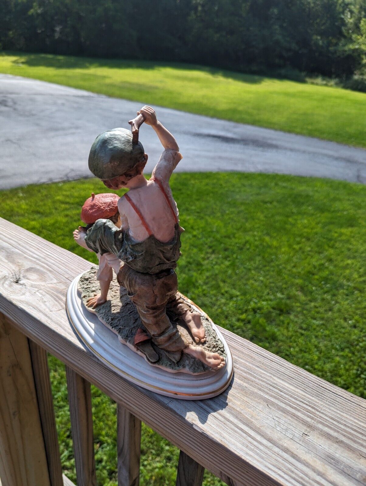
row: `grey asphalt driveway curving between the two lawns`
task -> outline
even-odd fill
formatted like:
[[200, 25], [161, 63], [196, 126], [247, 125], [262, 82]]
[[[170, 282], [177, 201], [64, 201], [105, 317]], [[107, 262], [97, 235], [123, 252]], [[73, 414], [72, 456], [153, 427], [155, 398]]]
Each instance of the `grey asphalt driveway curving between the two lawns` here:
[[[0, 74], [0, 189], [90, 176], [95, 137], [129, 128], [141, 103]], [[366, 183], [366, 150], [251, 125], [156, 107], [183, 160], [176, 171], [242, 171], [329, 177]], [[147, 171], [162, 147], [151, 127], [140, 140]]]

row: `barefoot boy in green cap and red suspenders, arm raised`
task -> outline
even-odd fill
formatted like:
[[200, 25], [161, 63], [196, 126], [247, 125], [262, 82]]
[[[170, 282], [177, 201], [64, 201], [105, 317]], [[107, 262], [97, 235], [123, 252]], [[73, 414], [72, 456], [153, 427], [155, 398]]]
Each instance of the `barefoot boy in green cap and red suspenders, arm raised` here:
[[130, 131], [115, 128], [99, 135], [91, 147], [89, 168], [109, 189], [129, 189], [118, 201], [121, 229], [100, 219], [88, 231], [79, 230], [77, 237], [84, 238], [92, 251], [101, 255], [109, 252], [122, 260], [117, 280], [127, 289], [157, 347], [175, 362], [184, 352], [217, 370], [225, 365], [224, 359], [188, 341], [168, 317], [182, 319], [197, 344], [205, 341], [200, 314], [191, 312], [177, 295], [174, 271], [181, 255], [183, 228], [169, 178], [182, 155], [153, 108], [144, 106], [137, 114], [143, 115], [145, 123], [155, 130], [164, 152], [147, 181], [143, 175], [147, 154]]

